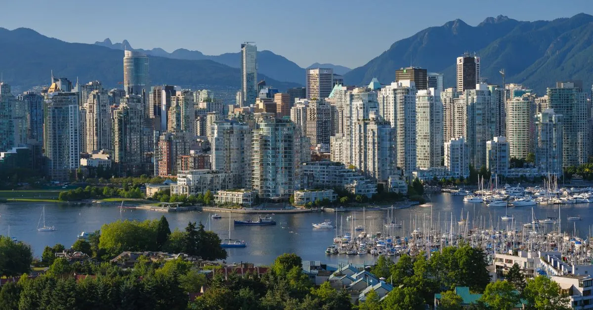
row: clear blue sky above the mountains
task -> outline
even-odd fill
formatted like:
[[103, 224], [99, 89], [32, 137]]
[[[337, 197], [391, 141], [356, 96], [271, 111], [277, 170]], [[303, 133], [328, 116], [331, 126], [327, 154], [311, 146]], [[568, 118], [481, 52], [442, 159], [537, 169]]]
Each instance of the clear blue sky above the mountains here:
[[[243, 41], [300, 66], [364, 65], [397, 40], [461, 18], [552, 20], [593, 14], [593, 0], [2, 0], [0, 27], [64, 41], [126, 39], [134, 48], [237, 52]], [[1, 56], [1, 53], [0, 53]]]

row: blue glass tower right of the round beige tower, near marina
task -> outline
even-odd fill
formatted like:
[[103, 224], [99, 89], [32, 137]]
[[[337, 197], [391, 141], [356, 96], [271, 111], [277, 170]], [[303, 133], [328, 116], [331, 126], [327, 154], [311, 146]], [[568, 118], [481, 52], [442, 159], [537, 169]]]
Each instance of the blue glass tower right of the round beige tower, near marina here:
[[544, 175], [562, 175], [562, 115], [547, 109], [535, 121], [535, 167]]

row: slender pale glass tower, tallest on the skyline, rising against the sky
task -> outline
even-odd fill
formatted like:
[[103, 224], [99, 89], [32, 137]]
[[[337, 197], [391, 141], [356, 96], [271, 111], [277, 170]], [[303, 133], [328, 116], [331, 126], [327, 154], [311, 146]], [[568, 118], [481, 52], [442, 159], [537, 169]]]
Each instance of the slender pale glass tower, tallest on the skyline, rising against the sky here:
[[256, 102], [257, 92], [257, 46], [245, 42], [241, 44], [241, 107]]

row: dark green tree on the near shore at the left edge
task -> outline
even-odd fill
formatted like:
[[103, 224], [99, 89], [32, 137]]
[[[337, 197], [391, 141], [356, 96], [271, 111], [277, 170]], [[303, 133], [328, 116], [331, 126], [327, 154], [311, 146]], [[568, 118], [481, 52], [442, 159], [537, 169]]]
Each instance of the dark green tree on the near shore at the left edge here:
[[27, 273], [33, 261], [31, 247], [0, 236], [0, 276], [14, 277]]

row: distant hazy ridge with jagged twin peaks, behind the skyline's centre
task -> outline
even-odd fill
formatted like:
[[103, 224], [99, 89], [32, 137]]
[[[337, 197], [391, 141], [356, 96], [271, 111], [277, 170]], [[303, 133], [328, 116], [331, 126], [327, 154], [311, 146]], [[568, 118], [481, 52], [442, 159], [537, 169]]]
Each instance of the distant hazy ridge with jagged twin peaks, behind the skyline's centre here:
[[[168, 53], [160, 47], [156, 47], [151, 50], [144, 49], [133, 49], [129, 41], [123, 40], [122, 43], [111, 43], [109, 38], [103, 41], [95, 42], [96, 45], [109, 47], [111, 49], [118, 50], [135, 50], [138, 52], [145, 53], [150, 56], [167, 57], [172, 59], [187, 59], [187, 60], [213, 60], [223, 65], [227, 65], [232, 68], [239, 68], [241, 65], [241, 53], [224, 53], [222, 55], [204, 55], [199, 50], [187, 50], [187, 49], [176, 49], [171, 53]], [[313, 65], [307, 68], [333, 68], [337, 74], [345, 74], [350, 71], [350, 68], [345, 66], [332, 65], [331, 63], [313, 63]], [[277, 79], [278, 81], [294, 82], [299, 84], [305, 83], [305, 68], [301, 68], [291, 60], [286, 59], [284, 56], [276, 55], [269, 50], [257, 51], [257, 72], [263, 75], [269, 76], [270, 78]], [[269, 84], [269, 83], [267, 83]]]

